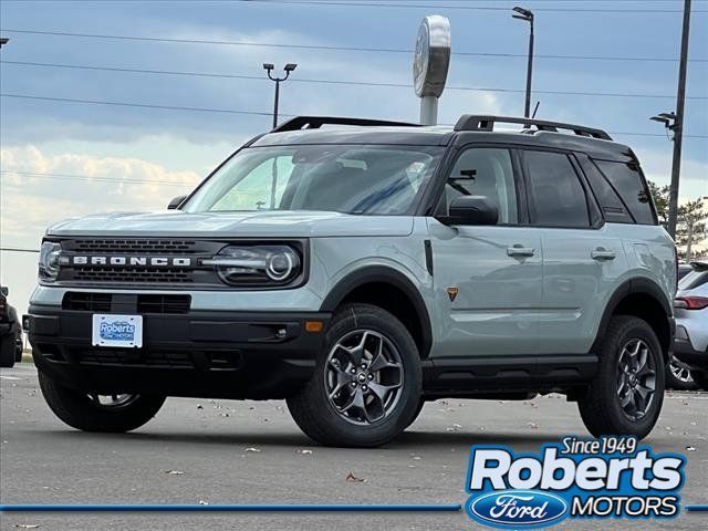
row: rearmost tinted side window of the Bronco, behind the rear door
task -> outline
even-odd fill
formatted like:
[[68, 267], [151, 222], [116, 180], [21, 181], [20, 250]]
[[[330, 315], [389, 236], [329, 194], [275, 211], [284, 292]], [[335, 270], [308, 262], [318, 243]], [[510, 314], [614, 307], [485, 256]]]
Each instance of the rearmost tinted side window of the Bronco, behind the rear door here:
[[607, 160], [595, 160], [595, 164], [629, 209], [635, 222], [656, 225], [652, 199], [639, 174], [639, 167], [634, 164]]

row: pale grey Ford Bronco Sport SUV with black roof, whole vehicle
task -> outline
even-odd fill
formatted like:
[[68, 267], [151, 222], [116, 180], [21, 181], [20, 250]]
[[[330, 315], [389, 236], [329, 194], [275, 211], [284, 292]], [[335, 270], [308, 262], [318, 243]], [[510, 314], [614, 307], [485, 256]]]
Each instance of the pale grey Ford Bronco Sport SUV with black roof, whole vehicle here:
[[373, 447], [425, 400], [562, 393], [593, 435], [642, 438], [676, 263], [603, 131], [301, 116], [167, 211], [51, 227], [24, 324], [83, 430], [137, 428], [166, 396], [284, 398], [319, 442]]

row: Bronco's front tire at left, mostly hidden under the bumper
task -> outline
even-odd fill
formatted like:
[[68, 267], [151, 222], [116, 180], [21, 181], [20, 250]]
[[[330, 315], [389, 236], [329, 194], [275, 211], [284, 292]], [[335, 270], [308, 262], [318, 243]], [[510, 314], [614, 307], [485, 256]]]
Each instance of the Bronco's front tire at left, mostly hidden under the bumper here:
[[50, 409], [72, 428], [122, 433], [139, 428], [165, 403], [155, 395], [88, 395], [56, 384], [39, 373], [40, 389]]

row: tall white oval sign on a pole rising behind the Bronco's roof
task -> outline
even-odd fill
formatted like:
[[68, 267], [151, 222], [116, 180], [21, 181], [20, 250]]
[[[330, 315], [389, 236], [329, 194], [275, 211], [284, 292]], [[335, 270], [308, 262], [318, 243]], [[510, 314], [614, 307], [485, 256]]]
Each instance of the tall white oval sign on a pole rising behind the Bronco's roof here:
[[450, 65], [450, 21], [439, 14], [423, 19], [413, 59], [413, 86], [420, 98], [420, 124], [438, 123], [438, 98]]

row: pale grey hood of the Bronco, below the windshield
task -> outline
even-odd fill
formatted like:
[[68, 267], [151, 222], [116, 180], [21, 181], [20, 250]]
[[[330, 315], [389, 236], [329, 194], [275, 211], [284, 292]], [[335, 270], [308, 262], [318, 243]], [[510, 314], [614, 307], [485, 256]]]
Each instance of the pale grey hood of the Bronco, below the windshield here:
[[322, 238], [407, 236], [410, 216], [353, 216], [323, 211], [97, 214], [61, 221], [51, 236], [121, 236], [192, 238]]

